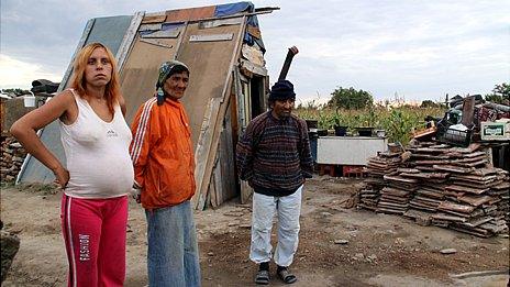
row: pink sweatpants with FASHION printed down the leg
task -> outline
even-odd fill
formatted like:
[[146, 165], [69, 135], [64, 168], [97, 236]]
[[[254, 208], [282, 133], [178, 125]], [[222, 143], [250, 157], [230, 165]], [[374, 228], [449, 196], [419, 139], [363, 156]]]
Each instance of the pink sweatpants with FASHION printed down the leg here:
[[60, 219], [68, 286], [123, 286], [127, 197], [81, 199], [63, 194]]

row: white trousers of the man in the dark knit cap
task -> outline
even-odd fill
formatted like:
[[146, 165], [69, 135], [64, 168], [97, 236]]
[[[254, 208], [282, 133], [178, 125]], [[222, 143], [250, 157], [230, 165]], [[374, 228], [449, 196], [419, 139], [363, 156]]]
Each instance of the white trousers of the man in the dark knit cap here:
[[302, 186], [286, 197], [253, 195], [252, 246], [250, 260], [259, 264], [271, 258], [270, 234], [275, 213], [278, 219], [278, 244], [275, 251], [275, 263], [289, 266], [299, 242], [299, 216], [301, 213]]

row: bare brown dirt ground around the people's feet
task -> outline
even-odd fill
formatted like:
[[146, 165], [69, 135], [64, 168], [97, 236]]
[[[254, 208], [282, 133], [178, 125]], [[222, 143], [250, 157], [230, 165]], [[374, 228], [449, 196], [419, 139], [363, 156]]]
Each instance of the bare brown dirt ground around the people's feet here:
[[[293, 286], [507, 286], [508, 234], [479, 239], [397, 216], [344, 209], [359, 179], [317, 176], [303, 194]], [[21, 247], [3, 286], [64, 286], [60, 194], [47, 186], [1, 190], [1, 220]], [[203, 286], [254, 286], [248, 261], [251, 206], [234, 199], [196, 213]], [[146, 286], [145, 216], [130, 203], [125, 286]], [[275, 233], [275, 232], [273, 232]], [[274, 238], [275, 239], [275, 238]], [[345, 240], [346, 244], [335, 241]], [[443, 249], [455, 249], [443, 255]], [[284, 286], [271, 265], [270, 286]], [[457, 276], [487, 272], [485, 276]], [[494, 272], [494, 273], [491, 273]]]

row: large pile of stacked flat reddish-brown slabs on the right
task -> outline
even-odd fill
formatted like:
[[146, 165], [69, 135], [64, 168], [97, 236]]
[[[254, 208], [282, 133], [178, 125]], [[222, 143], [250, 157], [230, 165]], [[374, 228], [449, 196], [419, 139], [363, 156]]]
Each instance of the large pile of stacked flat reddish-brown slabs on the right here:
[[480, 144], [411, 142], [404, 153], [370, 158], [368, 169], [359, 208], [483, 238], [508, 231], [509, 173], [490, 167]]

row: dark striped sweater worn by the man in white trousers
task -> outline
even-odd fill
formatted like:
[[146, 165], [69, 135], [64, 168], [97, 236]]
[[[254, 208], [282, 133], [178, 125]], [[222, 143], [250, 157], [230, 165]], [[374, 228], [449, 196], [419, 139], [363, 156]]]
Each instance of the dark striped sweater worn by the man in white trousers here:
[[240, 177], [257, 194], [288, 196], [312, 177], [307, 122], [267, 111], [253, 119], [236, 147]]

